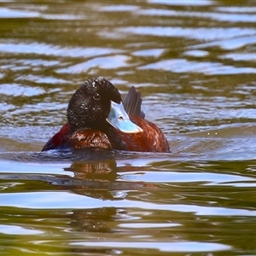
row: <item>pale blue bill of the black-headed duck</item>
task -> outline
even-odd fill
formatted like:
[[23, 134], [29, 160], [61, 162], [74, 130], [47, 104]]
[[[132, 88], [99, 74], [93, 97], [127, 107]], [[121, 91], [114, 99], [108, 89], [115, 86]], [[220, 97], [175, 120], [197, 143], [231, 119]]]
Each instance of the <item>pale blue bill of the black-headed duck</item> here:
[[122, 102], [119, 104], [111, 101], [111, 108], [107, 121], [114, 128], [125, 133], [143, 132], [143, 129], [131, 122]]

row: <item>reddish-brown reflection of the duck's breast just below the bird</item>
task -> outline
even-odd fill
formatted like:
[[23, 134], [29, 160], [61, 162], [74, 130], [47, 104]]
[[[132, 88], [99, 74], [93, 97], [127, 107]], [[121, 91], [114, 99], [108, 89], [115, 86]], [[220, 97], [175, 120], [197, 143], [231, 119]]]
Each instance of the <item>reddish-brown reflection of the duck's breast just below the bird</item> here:
[[73, 192], [102, 200], [122, 200], [126, 191], [153, 187], [148, 183], [121, 180], [120, 172], [138, 172], [139, 168], [131, 165], [118, 167], [115, 159], [103, 157], [101, 160], [73, 161], [64, 170], [73, 172], [73, 181], [79, 181], [71, 186]]

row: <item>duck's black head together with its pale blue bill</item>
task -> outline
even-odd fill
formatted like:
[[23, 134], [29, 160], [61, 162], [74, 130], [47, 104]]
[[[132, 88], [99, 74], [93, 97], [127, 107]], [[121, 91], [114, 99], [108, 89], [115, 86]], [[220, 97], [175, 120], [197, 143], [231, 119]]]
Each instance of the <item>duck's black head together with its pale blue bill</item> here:
[[89, 79], [76, 90], [68, 104], [67, 120], [71, 131], [105, 131], [108, 124], [126, 133], [143, 131], [129, 119], [119, 90], [102, 77]]

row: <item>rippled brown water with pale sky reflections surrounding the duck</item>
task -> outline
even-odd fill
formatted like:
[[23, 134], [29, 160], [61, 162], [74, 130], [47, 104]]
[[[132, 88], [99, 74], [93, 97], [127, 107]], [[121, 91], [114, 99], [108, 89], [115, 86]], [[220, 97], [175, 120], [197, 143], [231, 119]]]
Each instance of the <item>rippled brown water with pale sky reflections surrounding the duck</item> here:
[[[254, 5], [2, 1], [0, 254], [255, 255]], [[171, 154], [40, 153], [95, 76]]]

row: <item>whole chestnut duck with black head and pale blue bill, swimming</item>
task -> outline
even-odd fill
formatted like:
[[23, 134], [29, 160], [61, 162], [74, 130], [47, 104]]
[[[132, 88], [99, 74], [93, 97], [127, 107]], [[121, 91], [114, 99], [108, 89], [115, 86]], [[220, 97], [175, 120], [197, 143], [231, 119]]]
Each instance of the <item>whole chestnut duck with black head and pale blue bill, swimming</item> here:
[[123, 101], [108, 79], [86, 80], [70, 99], [67, 123], [45, 143], [42, 151], [105, 148], [135, 152], [170, 152], [154, 123], [145, 119], [141, 93], [131, 86]]

